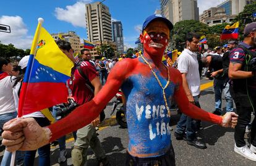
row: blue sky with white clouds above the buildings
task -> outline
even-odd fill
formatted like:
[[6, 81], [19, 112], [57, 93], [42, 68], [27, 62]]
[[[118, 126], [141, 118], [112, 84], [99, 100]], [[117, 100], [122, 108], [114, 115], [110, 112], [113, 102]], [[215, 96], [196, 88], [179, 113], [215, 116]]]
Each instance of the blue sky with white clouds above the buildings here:
[[[220, 4], [223, 0], [198, 0], [199, 14], [203, 10]], [[31, 46], [38, 17], [45, 22], [43, 27], [49, 33], [75, 31], [81, 39], [87, 39], [85, 28], [85, 5], [93, 0], [8, 0], [0, 6], [0, 24], [10, 25], [11, 33], [0, 32], [2, 44], [12, 43], [16, 48]], [[122, 22], [124, 45], [135, 47], [143, 21], [156, 9], [159, 0], [105, 0], [113, 20]]]

